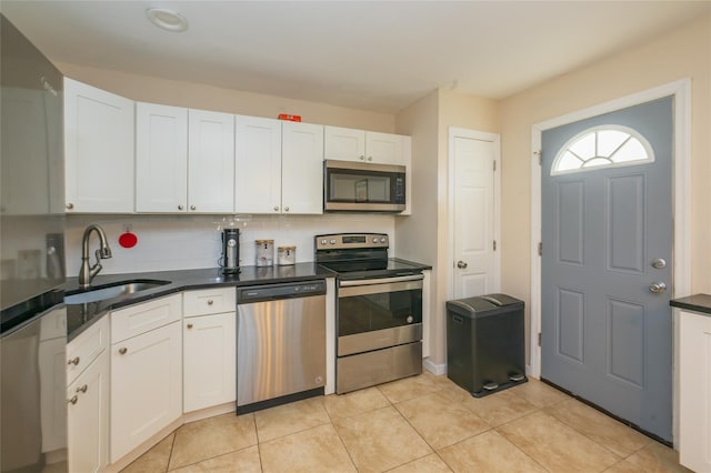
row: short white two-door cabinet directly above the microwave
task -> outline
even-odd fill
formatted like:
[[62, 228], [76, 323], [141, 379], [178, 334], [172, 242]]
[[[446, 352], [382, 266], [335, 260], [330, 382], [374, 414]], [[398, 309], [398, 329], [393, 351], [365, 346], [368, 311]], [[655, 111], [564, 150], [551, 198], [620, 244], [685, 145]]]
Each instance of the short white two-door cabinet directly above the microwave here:
[[378, 164], [405, 164], [400, 134], [324, 127], [324, 158]]

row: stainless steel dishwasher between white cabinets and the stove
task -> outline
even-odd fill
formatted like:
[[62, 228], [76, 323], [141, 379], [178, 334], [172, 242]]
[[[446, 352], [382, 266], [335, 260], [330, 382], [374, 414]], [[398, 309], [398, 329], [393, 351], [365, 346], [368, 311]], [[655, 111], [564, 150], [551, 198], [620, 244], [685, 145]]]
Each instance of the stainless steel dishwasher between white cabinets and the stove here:
[[238, 414], [323, 394], [326, 281], [237, 289]]

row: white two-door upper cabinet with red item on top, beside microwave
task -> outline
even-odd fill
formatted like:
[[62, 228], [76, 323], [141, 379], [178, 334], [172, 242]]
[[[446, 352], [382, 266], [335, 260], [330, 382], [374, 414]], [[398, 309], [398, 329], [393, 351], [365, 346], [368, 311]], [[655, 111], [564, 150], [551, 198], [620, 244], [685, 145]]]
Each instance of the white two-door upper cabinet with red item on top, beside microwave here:
[[237, 117], [236, 157], [236, 212], [323, 212], [323, 125]]

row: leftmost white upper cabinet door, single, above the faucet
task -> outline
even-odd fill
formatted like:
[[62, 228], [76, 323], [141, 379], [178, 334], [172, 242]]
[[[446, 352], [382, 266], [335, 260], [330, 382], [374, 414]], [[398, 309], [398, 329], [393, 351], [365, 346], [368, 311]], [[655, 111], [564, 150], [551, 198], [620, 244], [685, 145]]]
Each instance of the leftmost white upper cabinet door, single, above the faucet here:
[[64, 79], [69, 212], [133, 212], [133, 101]]

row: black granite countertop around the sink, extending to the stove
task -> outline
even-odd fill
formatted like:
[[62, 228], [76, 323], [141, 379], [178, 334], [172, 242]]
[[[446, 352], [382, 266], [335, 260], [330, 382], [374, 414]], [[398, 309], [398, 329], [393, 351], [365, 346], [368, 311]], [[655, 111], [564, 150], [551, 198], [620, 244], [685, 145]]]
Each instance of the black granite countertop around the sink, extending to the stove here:
[[[67, 304], [67, 339], [73, 340], [109, 311], [138, 302], [162, 298], [187, 290], [219, 286], [244, 286], [299, 282], [312, 279], [333, 278], [337, 274], [316, 263], [297, 263], [289, 266], [243, 266], [239, 274], [223, 274], [222, 269], [154, 271], [144, 273], [107, 274], [97, 276], [91, 289], [114, 285], [122, 281], [168, 281], [168, 284], [133, 294], [124, 294], [99, 302]], [[77, 278], [69, 278], [64, 284], [66, 295], [81, 293]]]

